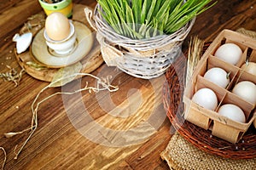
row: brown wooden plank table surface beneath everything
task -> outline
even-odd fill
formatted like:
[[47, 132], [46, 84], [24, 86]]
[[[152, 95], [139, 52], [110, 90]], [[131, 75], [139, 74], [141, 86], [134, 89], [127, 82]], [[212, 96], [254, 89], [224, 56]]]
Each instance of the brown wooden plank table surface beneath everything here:
[[[96, 0], [73, 0], [91, 8]], [[223, 29], [245, 28], [256, 31], [254, 0], [224, 1], [197, 17], [189, 33], [207, 42]], [[0, 5], [0, 72], [6, 65], [20, 71], [15, 60], [12, 37], [29, 16], [42, 12], [38, 1], [14, 0]], [[183, 43], [188, 48], [189, 37]], [[27, 74], [20, 84], [1, 80], [0, 147], [7, 153], [4, 169], [168, 169], [160, 152], [172, 137], [171, 124], [161, 103], [161, 88], [165, 77], [143, 80], [131, 77], [116, 68], [101, 65], [93, 75], [112, 76], [117, 92], [84, 91], [73, 95], [56, 95], [38, 108], [38, 128], [15, 160], [17, 150], [29, 133], [5, 138], [3, 133], [19, 132], [30, 127], [31, 105], [36, 95], [49, 82], [38, 81]], [[84, 77], [64, 88], [49, 88], [39, 96], [84, 86], [93, 78]], [[0, 164], [4, 159], [0, 150]]]

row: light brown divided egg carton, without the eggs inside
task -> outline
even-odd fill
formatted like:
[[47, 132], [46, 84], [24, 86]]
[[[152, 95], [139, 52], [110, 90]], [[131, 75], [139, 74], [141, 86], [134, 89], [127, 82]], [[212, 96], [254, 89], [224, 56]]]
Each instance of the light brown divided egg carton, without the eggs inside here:
[[[243, 52], [241, 59], [236, 65], [226, 63], [224, 60], [214, 56], [218, 47], [227, 42], [236, 43]], [[236, 144], [242, 138], [244, 133], [247, 132], [248, 127], [253, 125], [253, 123], [256, 127], [255, 104], [249, 103], [231, 92], [236, 83], [241, 81], [247, 80], [256, 84], [256, 77], [241, 69], [241, 65], [245, 63], [250, 50], [249, 61], [256, 62], [256, 40], [236, 31], [222, 31], [203, 54], [183, 94], [184, 118], [199, 127], [211, 130], [212, 135], [233, 144]], [[221, 88], [203, 77], [212, 67], [220, 67], [230, 73], [230, 83], [226, 88]], [[215, 111], [207, 110], [191, 100], [195, 92], [201, 88], [211, 88], [217, 95], [218, 107]], [[236, 122], [219, 115], [217, 112], [218, 108], [224, 104], [239, 106], [244, 111], [246, 122]]]

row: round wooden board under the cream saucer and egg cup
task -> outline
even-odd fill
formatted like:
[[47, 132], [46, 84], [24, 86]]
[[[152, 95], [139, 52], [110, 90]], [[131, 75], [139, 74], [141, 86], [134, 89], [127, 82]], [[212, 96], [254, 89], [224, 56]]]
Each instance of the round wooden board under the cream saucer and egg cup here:
[[[96, 68], [102, 65], [103, 59], [100, 44], [96, 41], [96, 32], [93, 30], [93, 28], [90, 27], [90, 24], [87, 22], [85, 18], [85, 7], [86, 6], [82, 4], [73, 4], [72, 20], [78, 20], [84, 23], [84, 25], [89, 27], [90, 30], [93, 32], [94, 44], [90, 50], [90, 53], [79, 61], [83, 65], [80, 72], [90, 73], [92, 71], [95, 71]], [[40, 29], [44, 28], [45, 18], [46, 15], [43, 12], [40, 14], [33, 15], [21, 28], [20, 34], [26, 31], [31, 31], [34, 37]], [[38, 63], [38, 61], [33, 59], [33, 57], [31, 56], [29, 48], [27, 48], [26, 52], [16, 54], [16, 58], [20, 66], [25, 69], [27, 74], [38, 80], [42, 80], [45, 82], [51, 82], [53, 77], [55, 76], [55, 73], [60, 69], [49, 68], [47, 67], [47, 65], [42, 65]]]

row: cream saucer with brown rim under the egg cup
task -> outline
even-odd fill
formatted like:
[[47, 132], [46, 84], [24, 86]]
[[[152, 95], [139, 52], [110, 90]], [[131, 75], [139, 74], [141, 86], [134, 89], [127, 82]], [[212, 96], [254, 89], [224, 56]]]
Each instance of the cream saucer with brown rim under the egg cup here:
[[50, 49], [45, 43], [45, 29], [43, 28], [33, 37], [30, 50], [32, 59], [39, 65], [44, 65], [48, 68], [61, 68], [83, 59], [93, 48], [95, 36], [90, 31], [90, 28], [82, 22], [73, 20], [73, 26], [77, 38], [70, 53], [61, 55]]

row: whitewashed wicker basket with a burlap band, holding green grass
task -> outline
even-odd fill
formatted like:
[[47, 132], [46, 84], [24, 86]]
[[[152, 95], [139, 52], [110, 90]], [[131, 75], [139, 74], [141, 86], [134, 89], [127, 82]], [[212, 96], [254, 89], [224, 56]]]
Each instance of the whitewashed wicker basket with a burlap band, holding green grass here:
[[171, 35], [133, 40], [117, 34], [102, 18], [99, 4], [94, 14], [84, 8], [87, 20], [97, 31], [102, 57], [108, 66], [117, 66], [133, 77], [150, 79], [164, 74], [181, 53], [183, 40], [189, 34], [195, 19]]

